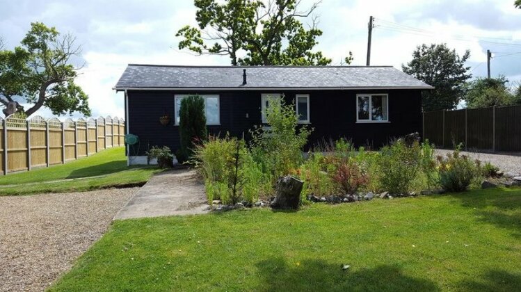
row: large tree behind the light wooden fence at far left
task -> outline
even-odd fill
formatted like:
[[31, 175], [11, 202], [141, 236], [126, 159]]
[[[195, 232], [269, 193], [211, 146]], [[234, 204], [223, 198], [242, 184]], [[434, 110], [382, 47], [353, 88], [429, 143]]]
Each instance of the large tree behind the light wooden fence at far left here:
[[0, 103], [8, 110], [4, 113], [12, 113], [15, 104], [26, 115], [42, 106], [55, 115], [74, 111], [90, 115], [88, 96], [74, 83], [79, 68], [71, 64], [71, 58], [81, 51], [74, 42], [72, 35], [34, 22], [21, 46], [0, 50]]

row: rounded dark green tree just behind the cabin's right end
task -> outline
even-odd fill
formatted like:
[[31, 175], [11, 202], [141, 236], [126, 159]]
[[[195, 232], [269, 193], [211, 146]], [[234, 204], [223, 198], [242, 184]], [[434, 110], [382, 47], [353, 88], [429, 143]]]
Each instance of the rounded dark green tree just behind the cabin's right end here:
[[435, 89], [422, 94], [424, 111], [456, 108], [465, 96], [465, 81], [472, 76], [465, 61], [470, 51], [459, 56], [447, 44], [422, 44], [412, 53], [412, 60], [402, 65], [403, 72], [434, 86]]

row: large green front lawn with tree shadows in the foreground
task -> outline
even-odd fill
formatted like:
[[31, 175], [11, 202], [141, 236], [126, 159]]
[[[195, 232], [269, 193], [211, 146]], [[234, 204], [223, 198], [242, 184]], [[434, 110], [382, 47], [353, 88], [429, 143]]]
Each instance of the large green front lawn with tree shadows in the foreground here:
[[520, 287], [518, 188], [313, 204], [298, 212], [120, 220], [51, 291]]

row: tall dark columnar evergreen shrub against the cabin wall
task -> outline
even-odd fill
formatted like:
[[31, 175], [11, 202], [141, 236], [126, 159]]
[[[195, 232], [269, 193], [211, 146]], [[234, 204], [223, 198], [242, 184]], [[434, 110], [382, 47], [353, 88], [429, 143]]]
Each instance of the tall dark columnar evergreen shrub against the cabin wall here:
[[181, 148], [176, 152], [176, 156], [179, 163], [183, 163], [192, 158], [195, 143], [207, 138], [205, 99], [202, 97], [190, 95], [181, 99], [179, 138]]

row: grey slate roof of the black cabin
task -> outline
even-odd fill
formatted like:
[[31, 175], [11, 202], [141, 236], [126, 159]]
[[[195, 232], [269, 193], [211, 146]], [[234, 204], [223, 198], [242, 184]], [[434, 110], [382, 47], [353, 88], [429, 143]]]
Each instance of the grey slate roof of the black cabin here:
[[[243, 85], [243, 69], [247, 83]], [[390, 66], [172, 66], [129, 64], [115, 90], [126, 88], [419, 88], [428, 84]]]

